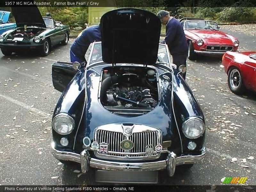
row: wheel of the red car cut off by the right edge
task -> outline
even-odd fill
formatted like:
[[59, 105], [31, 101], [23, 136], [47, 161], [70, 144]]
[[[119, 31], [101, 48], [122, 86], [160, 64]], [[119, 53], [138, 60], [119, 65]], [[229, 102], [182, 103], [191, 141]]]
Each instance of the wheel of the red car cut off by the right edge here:
[[228, 87], [237, 95], [244, 92], [243, 77], [239, 69], [236, 67], [232, 67], [228, 71]]

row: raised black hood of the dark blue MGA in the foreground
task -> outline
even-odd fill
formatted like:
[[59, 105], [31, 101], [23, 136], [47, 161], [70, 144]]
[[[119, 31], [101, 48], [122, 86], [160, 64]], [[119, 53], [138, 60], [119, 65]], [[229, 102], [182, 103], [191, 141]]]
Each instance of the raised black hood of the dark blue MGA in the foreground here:
[[161, 22], [148, 11], [115, 9], [100, 19], [102, 60], [106, 63], [155, 65]]

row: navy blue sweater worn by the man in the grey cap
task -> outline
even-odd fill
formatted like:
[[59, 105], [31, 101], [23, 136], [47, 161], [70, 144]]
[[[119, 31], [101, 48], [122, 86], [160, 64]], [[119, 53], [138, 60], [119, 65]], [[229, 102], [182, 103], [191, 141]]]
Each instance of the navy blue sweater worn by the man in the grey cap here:
[[188, 52], [188, 44], [180, 21], [172, 18], [166, 25], [165, 33], [164, 42], [168, 45], [171, 54]]

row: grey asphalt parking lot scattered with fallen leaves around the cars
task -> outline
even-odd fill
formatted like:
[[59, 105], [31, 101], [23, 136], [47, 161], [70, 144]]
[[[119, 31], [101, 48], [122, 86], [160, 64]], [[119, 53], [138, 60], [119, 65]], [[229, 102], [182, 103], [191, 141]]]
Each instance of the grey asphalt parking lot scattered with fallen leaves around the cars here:
[[[255, 36], [223, 30], [238, 37], [241, 50], [256, 50]], [[0, 53], [1, 185], [30, 184], [8, 178], [46, 185], [56, 183], [42, 179], [58, 178], [64, 185], [101, 184], [94, 182], [94, 172], [81, 175], [79, 167], [60, 164], [50, 151], [51, 116], [61, 94], [52, 86], [51, 65], [68, 61], [69, 47], [70, 43], [58, 46], [44, 58]], [[187, 82], [206, 118], [207, 157], [188, 172], [177, 169], [172, 178], [161, 172], [160, 184], [220, 185], [223, 177], [246, 176], [246, 185], [256, 185], [256, 95], [231, 93], [220, 59], [188, 61]], [[250, 156], [254, 159], [247, 159]]]

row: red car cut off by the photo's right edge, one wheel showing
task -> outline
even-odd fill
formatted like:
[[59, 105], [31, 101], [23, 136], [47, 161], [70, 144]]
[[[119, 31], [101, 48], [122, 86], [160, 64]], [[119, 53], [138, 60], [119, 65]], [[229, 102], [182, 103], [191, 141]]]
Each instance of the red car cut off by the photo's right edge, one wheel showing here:
[[228, 51], [223, 55], [222, 63], [233, 93], [242, 94], [245, 88], [256, 91], [256, 51]]

